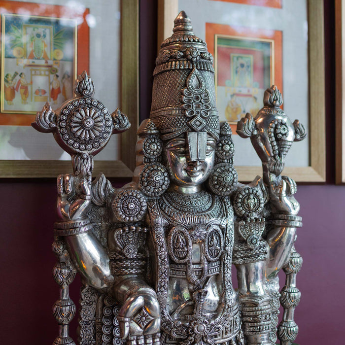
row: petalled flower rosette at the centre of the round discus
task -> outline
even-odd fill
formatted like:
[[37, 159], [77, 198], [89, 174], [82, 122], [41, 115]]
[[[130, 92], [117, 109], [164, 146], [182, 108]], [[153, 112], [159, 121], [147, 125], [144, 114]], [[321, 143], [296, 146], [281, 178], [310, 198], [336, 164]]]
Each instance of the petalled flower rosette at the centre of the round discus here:
[[70, 127], [76, 138], [94, 139], [102, 131], [102, 116], [94, 108], [79, 108], [71, 118]]

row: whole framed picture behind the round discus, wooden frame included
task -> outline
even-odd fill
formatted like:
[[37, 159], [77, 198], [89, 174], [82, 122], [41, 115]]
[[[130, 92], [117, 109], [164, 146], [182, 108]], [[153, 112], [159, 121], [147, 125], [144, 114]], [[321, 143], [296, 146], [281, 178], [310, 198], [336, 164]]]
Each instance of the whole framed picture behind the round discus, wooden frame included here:
[[0, 177], [72, 172], [53, 136], [30, 124], [45, 102], [56, 109], [72, 96], [83, 70], [94, 81], [95, 98], [110, 112], [119, 107], [132, 124], [95, 157], [94, 175], [130, 177], [138, 127], [138, 0], [53, 3], [0, 0]]

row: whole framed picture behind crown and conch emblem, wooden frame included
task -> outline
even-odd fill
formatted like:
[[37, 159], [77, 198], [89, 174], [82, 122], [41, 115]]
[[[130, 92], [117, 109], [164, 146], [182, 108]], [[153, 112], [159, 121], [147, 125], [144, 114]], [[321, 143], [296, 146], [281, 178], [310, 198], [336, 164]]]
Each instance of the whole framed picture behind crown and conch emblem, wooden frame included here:
[[276, 84], [287, 116], [308, 131], [308, 139], [292, 145], [283, 174], [325, 181], [323, 1], [161, 0], [159, 41], [171, 35], [180, 10], [214, 56], [217, 108], [233, 129], [240, 180], [253, 180], [262, 168], [236, 123], [246, 112], [255, 116], [264, 91]]

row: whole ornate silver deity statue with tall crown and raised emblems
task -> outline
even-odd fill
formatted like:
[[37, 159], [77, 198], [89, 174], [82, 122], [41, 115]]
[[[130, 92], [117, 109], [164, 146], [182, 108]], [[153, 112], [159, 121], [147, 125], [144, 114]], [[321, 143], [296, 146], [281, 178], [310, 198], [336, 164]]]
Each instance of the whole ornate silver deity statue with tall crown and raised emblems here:
[[[72, 157], [58, 177], [54, 278], [61, 297], [54, 344], [74, 344], [69, 284], [82, 276], [79, 343], [129, 345], [292, 344], [300, 300], [295, 251], [302, 226], [295, 182], [281, 176], [291, 143], [304, 127], [281, 110], [276, 86], [255, 118], [237, 132], [250, 138], [263, 177], [238, 182], [228, 123], [219, 123], [213, 58], [182, 11], [156, 61], [150, 118], [138, 129], [133, 181], [120, 189], [103, 174], [92, 181], [93, 156], [129, 122], [94, 99], [84, 72], [76, 97], [34, 127], [52, 132]], [[233, 288], [232, 264], [238, 289]], [[279, 292], [278, 272], [286, 273]], [[278, 323], [278, 308], [284, 308]]]

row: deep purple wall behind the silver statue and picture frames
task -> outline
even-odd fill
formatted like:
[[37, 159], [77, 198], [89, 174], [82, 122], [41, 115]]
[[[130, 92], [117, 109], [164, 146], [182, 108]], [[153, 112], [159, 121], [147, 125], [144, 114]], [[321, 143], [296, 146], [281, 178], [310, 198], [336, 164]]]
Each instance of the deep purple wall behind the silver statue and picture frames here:
[[[145, 118], [156, 56], [157, 10], [156, 0], [140, 3], [140, 117]], [[296, 244], [304, 258], [297, 278], [302, 291], [296, 310], [300, 327], [297, 343], [301, 345], [344, 343], [345, 186], [334, 185], [334, 4], [328, 0], [325, 43], [327, 183], [299, 186], [297, 193], [304, 223]], [[0, 343], [51, 344], [57, 335], [51, 306], [58, 299], [58, 287], [51, 277], [55, 258], [50, 249], [55, 181], [2, 180], [0, 192]], [[79, 285], [76, 279], [71, 289], [75, 302]]]

